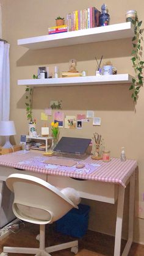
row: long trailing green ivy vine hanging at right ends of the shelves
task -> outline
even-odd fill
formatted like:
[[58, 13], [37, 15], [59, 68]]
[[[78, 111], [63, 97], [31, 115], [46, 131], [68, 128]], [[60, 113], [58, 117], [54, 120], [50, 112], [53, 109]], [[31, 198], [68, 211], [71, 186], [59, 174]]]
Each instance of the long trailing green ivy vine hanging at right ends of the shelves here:
[[142, 31], [140, 26], [142, 25], [142, 21], [139, 21], [137, 15], [135, 20], [131, 20], [132, 24], [134, 24], [134, 37], [132, 38], [132, 67], [135, 71], [135, 76], [132, 78], [131, 87], [129, 90], [132, 90], [131, 97], [134, 99], [134, 103], [137, 102], [137, 98], [140, 92], [140, 87], [143, 86], [143, 64], [142, 61]]

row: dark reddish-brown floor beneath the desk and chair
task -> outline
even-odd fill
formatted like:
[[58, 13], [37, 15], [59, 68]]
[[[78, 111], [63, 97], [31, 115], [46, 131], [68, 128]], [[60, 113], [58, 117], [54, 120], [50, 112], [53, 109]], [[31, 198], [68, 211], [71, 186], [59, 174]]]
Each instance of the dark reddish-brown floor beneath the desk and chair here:
[[[35, 240], [38, 234], [39, 226], [34, 224], [26, 224], [26, 227], [17, 234], [10, 234], [4, 240], [0, 241], [0, 252], [3, 246], [22, 246], [22, 247], [38, 247], [38, 241]], [[48, 229], [46, 229], [48, 230]], [[63, 236], [55, 233], [52, 225], [49, 228], [49, 234], [46, 232], [46, 246], [59, 244], [67, 241], [73, 241], [74, 238]], [[122, 247], [124, 246], [122, 241]], [[114, 247], [114, 238], [108, 235], [92, 232], [88, 230], [87, 234], [79, 239], [79, 252], [77, 256], [112, 256]], [[10, 256], [22, 256], [24, 254], [9, 254]], [[25, 254], [26, 255], [26, 254]], [[28, 255], [28, 254], [27, 254]], [[53, 252], [52, 256], [72, 256], [70, 249]], [[143, 256], [144, 246], [140, 244], [132, 244], [129, 256]]]

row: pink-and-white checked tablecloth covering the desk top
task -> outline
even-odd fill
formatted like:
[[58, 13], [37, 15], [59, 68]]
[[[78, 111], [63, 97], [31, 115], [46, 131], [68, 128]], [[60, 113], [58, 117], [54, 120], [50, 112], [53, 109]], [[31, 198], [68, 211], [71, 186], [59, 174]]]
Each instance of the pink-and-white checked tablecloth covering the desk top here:
[[56, 159], [57, 157], [43, 156], [38, 152], [26, 154], [15, 152], [0, 156], [0, 166], [19, 168], [40, 174], [116, 183], [124, 187], [137, 167], [137, 161], [132, 159], [121, 162], [119, 158], [112, 158], [110, 162], [104, 163], [102, 160], [96, 161], [88, 156], [86, 159], [78, 160], [80, 163], [84, 163], [85, 167], [77, 169], [75, 166], [67, 167], [43, 163], [48, 158]]

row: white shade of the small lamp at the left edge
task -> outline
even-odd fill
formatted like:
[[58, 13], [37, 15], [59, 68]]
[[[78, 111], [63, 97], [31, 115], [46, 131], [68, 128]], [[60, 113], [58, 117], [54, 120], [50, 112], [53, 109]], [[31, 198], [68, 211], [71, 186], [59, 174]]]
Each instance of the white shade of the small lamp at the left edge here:
[[15, 124], [13, 121], [0, 122], [0, 136], [10, 136], [15, 134]]

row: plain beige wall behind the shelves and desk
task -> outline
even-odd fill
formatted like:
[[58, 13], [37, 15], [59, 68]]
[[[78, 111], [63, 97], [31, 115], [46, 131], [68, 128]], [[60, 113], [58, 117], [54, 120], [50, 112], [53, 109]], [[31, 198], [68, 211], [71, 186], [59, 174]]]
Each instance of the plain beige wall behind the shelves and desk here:
[[[32, 78], [32, 75], [37, 73], [38, 66], [59, 65], [60, 70], [65, 71], [68, 70], [68, 60], [75, 58], [77, 70], [87, 70], [88, 75], [94, 75], [95, 56], [100, 59], [103, 54], [103, 64], [110, 59], [117, 67], [118, 73], [134, 74], [130, 60], [131, 39], [35, 51], [17, 46], [17, 39], [48, 34], [48, 27], [55, 25], [56, 16], [66, 16], [68, 12], [84, 9], [90, 5], [100, 9], [103, 1], [2, 0], [1, 2], [3, 35], [10, 43], [10, 119], [15, 121], [17, 143], [20, 141], [20, 134], [27, 133], [24, 107], [25, 87], [18, 87], [17, 79]], [[107, 0], [106, 4], [109, 7], [110, 24], [123, 23], [126, 11], [131, 9], [137, 10], [139, 20], [143, 20], [144, 3], [142, 0]], [[44, 108], [49, 107], [51, 100], [62, 100], [62, 111], [65, 115], [85, 114], [87, 110], [95, 111], [95, 116], [101, 117], [101, 126], [93, 126], [92, 122], [84, 123], [82, 130], [61, 129], [60, 136], [92, 138], [94, 132], [101, 133], [106, 147], [115, 157], [120, 156], [121, 147], [124, 146], [127, 157], [137, 159], [139, 162], [136, 199], [142, 200], [144, 192], [144, 90], [143, 88], [140, 90], [139, 100], [134, 109], [128, 88], [129, 85], [36, 88], [34, 89], [33, 112], [37, 119], [37, 130], [40, 132], [40, 127], [43, 125], [40, 113]], [[52, 118], [49, 118], [49, 123], [51, 121]], [[113, 234], [116, 207], [94, 201], [85, 200], [85, 202], [92, 207], [90, 229]], [[126, 205], [128, 205], [128, 199]], [[125, 211], [124, 235], [126, 235], [128, 209], [126, 208]], [[137, 217], [134, 220], [134, 239], [144, 243], [144, 220]]]

